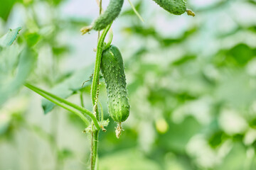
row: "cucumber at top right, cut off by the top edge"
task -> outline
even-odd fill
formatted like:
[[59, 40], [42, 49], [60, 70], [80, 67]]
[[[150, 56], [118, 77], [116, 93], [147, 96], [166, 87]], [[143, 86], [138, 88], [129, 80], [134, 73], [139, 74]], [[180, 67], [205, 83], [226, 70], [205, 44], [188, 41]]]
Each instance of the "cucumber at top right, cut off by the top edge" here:
[[183, 0], [153, 0], [169, 13], [181, 15], [186, 12], [186, 3]]

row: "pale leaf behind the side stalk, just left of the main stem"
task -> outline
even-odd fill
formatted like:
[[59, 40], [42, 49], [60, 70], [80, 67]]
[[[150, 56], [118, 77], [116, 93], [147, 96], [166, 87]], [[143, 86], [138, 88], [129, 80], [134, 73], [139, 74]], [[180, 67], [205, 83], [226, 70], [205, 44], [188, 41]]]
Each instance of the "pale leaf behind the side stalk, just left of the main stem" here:
[[[92, 84], [90, 77], [93, 73], [93, 68], [94, 65], [90, 65], [89, 67], [76, 71], [71, 77], [50, 90], [50, 93], [55, 94], [60, 98], [68, 98], [74, 94], [75, 91], [79, 91], [86, 86], [90, 86], [90, 84]], [[54, 103], [43, 99], [42, 107], [45, 114], [53, 110], [54, 106]]]

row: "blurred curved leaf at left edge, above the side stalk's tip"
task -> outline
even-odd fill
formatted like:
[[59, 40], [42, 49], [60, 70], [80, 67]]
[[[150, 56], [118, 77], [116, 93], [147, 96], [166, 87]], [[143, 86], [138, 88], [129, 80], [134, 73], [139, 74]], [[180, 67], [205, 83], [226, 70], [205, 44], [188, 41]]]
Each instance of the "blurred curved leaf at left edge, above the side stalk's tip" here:
[[[28, 78], [28, 75], [33, 70], [36, 63], [37, 54], [29, 47], [24, 47], [18, 56], [18, 67], [16, 69], [16, 74], [9, 81], [6, 81], [3, 76], [0, 77], [0, 106], [3, 104], [10, 96], [16, 94], [18, 89], [21, 88], [23, 83]], [[8, 70], [13, 72], [13, 70]]]

